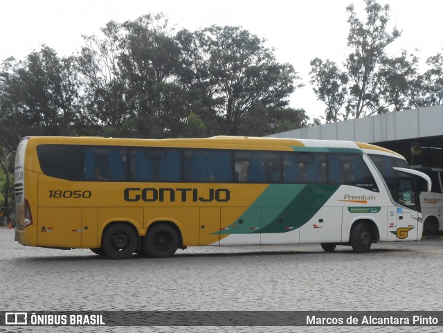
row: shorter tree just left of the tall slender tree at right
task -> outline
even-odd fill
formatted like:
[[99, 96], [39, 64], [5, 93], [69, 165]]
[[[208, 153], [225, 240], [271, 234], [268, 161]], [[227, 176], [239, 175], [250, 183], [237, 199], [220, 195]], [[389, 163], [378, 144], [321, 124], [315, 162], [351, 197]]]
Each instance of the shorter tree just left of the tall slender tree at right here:
[[338, 66], [330, 61], [326, 62], [315, 58], [311, 60], [311, 84], [319, 100], [325, 103], [326, 122], [336, 123], [339, 117], [346, 118], [341, 113], [341, 108], [346, 102], [347, 96], [347, 75], [338, 69]]

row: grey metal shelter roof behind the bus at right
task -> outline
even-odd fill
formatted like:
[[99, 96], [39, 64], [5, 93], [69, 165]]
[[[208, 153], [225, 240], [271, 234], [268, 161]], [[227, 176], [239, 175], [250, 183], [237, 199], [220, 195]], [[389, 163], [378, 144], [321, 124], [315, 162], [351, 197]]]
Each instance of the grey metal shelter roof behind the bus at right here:
[[443, 168], [443, 105], [303, 127], [271, 137], [374, 143], [402, 154], [410, 164]]

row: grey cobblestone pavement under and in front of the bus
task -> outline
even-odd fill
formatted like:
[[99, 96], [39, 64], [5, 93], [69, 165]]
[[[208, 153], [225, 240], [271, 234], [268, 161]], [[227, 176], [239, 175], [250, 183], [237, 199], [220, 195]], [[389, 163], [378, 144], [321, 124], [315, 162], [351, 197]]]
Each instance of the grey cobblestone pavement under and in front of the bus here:
[[[0, 228], [0, 310], [440, 311], [443, 240], [338, 246], [197, 247], [173, 258], [108, 260], [21, 246]], [[42, 330], [43, 329], [43, 330]], [[97, 332], [64, 327], [63, 332]], [[374, 327], [102, 327], [100, 332], [374, 332]], [[378, 332], [443, 332], [379, 327]], [[60, 332], [26, 327], [6, 332]]]

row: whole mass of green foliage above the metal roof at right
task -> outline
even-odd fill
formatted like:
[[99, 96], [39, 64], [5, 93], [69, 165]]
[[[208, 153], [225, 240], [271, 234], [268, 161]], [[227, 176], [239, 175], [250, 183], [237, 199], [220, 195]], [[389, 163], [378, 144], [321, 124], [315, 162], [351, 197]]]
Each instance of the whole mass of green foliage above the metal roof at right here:
[[343, 64], [344, 71], [329, 60], [311, 61], [311, 84], [318, 100], [326, 105], [325, 120], [442, 104], [441, 53], [428, 59], [431, 69], [424, 74], [418, 71], [415, 53], [402, 51], [398, 57], [388, 57], [386, 48], [401, 35], [396, 27], [387, 31], [390, 7], [375, 0], [363, 1], [364, 20], [353, 5], [346, 8], [350, 24], [347, 45], [352, 52]]

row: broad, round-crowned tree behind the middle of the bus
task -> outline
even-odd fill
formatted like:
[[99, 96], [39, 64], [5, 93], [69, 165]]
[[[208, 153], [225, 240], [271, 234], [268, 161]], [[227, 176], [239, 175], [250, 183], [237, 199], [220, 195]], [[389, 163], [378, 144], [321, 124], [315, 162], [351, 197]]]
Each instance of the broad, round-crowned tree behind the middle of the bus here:
[[213, 118], [219, 117], [224, 132], [237, 134], [241, 120], [256, 104], [286, 106], [289, 95], [301, 86], [290, 64], [275, 62], [264, 40], [238, 26], [185, 30], [177, 37], [185, 73], [179, 80]]

